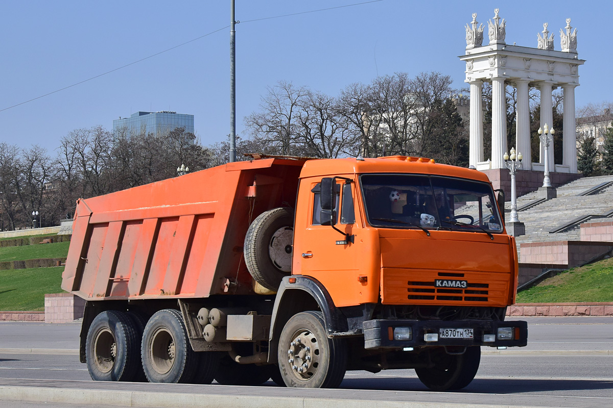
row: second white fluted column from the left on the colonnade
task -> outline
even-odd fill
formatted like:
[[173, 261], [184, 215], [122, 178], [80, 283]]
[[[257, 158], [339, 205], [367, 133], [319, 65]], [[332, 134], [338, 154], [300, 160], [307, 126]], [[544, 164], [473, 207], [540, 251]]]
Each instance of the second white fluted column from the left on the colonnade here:
[[504, 169], [506, 152], [506, 93], [504, 78], [492, 78], [492, 168]]

